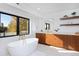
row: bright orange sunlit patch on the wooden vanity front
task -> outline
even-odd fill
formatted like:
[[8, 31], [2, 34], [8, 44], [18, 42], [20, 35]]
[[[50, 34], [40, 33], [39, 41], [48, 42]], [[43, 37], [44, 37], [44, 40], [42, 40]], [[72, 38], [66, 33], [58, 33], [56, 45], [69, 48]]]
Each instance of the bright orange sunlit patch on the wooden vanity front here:
[[62, 40], [57, 36], [53, 34], [46, 35], [46, 44], [62, 47]]

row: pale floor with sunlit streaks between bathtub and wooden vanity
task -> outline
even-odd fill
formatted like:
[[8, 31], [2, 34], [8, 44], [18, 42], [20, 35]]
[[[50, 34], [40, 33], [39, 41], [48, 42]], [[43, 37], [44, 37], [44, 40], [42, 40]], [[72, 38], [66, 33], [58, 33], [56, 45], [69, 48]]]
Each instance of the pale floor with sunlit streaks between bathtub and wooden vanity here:
[[38, 48], [30, 56], [79, 56], [79, 52], [38, 44]]

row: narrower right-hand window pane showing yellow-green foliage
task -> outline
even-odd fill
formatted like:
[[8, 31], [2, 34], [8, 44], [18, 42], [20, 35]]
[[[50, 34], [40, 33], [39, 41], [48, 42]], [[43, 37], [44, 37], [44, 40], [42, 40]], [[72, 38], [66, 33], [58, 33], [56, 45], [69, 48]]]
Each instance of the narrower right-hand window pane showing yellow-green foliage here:
[[28, 33], [28, 19], [19, 18], [19, 32], [20, 35]]

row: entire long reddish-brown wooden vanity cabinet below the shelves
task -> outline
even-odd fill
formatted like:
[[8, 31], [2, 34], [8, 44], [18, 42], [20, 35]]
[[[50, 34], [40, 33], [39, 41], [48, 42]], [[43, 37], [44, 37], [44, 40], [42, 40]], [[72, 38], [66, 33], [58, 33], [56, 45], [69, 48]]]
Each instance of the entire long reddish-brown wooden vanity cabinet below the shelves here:
[[79, 51], [78, 35], [36, 33], [39, 43]]

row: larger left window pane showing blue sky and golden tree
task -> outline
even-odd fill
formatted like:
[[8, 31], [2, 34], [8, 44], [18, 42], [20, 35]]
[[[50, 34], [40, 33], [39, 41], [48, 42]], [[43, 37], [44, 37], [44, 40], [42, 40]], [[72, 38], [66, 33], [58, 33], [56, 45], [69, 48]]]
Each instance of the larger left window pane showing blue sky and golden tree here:
[[16, 35], [17, 17], [1, 14], [0, 20], [0, 36]]

